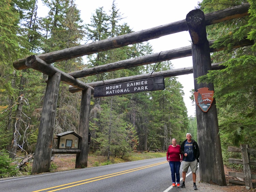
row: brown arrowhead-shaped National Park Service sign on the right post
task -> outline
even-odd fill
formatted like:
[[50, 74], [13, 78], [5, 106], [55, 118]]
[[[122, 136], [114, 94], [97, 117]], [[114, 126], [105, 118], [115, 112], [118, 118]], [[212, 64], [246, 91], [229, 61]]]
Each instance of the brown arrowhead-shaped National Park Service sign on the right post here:
[[197, 105], [203, 112], [207, 112], [213, 102], [214, 91], [209, 91], [209, 88], [203, 87], [194, 92]]

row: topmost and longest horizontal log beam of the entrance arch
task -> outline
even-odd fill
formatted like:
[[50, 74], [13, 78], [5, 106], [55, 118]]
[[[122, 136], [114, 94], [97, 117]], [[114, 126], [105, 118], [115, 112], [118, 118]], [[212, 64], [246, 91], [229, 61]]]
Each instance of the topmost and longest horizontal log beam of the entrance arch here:
[[[231, 8], [216, 11], [213, 13], [205, 14], [205, 25], [212, 25], [221, 23], [226, 20], [239, 18], [248, 14], [250, 8], [249, 3], [245, 3]], [[145, 29], [137, 32], [132, 32], [125, 35], [120, 35], [114, 38], [105, 39], [97, 42], [88, 43], [85, 45], [79, 45], [67, 49], [54, 51], [51, 53], [41, 54], [38, 57], [44, 60], [46, 63], [53, 63], [57, 61], [68, 60], [84, 55], [90, 55], [105, 50], [124, 47], [131, 44], [136, 44], [151, 39], [157, 39], [161, 36], [187, 31], [187, 25], [185, 19], [176, 21], [173, 23]], [[13, 66], [17, 70], [27, 69], [25, 64], [26, 59], [20, 59], [13, 62]]]

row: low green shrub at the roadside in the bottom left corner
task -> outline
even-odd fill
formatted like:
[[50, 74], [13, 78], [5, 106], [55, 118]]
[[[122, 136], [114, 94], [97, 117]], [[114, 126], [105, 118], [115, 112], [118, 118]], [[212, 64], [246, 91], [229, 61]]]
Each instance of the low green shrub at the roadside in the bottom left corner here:
[[6, 149], [0, 151], [0, 178], [12, 177], [17, 175], [18, 169], [12, 165], [12, 159], [9, 158], [9, 153]]

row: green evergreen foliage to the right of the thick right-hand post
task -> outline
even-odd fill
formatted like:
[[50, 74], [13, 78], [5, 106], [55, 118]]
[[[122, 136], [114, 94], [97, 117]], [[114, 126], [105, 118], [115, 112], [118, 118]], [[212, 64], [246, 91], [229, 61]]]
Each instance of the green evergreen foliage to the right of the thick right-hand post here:
[[201, 9], [208, 11], [227, 8], [249, 2], [250, 16], [207, 28], [208, 39], [218, 39], [214, 45], [226, 45], [227, 49], [213, 54], [213, 62], [225, 61], [225, 69], [211, 71], [200, 81], [213, 82], [218, 109], [219, 128], [222, 144], [236, 145], [239, 143], [255, 146], [252, 136], [255, 130], [255, 45], [238, 49], [231, 49], [234, 42], [242, 39], [255, 40], [255, 2], [248, 1], [202, 1]]

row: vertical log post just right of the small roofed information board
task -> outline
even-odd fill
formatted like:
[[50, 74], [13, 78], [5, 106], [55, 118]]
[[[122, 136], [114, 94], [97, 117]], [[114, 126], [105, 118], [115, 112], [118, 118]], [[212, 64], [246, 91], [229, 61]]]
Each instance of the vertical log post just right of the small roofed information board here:
[[78, 134], [82, 137], [79, 148], [81, 152], [76, 154], [75, 168], [87, 167], [89, 152], [89, 112], [91, 102], [91, 89], [82, 91], [80, 120]]

